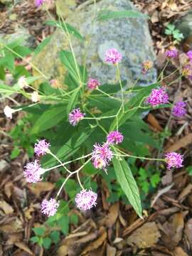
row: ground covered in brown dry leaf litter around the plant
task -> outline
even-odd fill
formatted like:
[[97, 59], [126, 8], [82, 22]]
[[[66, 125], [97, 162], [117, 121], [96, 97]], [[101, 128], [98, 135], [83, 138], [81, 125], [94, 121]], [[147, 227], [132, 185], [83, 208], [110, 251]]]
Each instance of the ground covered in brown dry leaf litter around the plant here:
[[[151, 35], [154, 38], [154, 48], [158, 55], [159, 67], [164, 61], [164, 48], [171, 45], [171, 40], [164, 35], [164, 24], [181, 16], [190, 8], [191, 1], [134, 1], [146, 14], [151, 16], [149, 24]], [[2, 9], [3, 10], [3, 9]], [[23, 1], [14, 9], [19, 22], [28, 28], [35, 36], [36, 43], [47, 36], [50, 28], [43, 25], [46, 18], [42, 11], [37, 11], [33, 3]], [[12, 33], [16, 21], [9, 21], [5, 9], [2, 15], [6, 18], [0, 24], [0, 29]], [[185, 45], [184, 45], [185, 46]], [[181, 46], [181, 53], [183, 47]], [[184, 47], [184, 50], [186, 48]], [[174, 68], [182, 64], [172, 63], [166, 71], [169, 75]], [[173, 81], [171, 76], [166, 82]], [[164, 127], [171, 129], [171, 137], [164, 140], [164, 150], [181, 152], [185, 155], [185, 166], [191, 163], [191, 82], [177, 80], [169, 87], [171, 100], [186, 100], [188, 114], [182, 119], [170, 118], [170, 110], [151, 112], [146, 117], [155, 133]], [[4, 105], [4, 103], [2, 103]], [[20, 117], [18, 117], [20, 118]], [[53, 182], [60, 174], [50, 176], [47, 183], [38, 183], [36, 188], [28, 186], [23, 178], [23, 165], [27, 155], [21, 153], [14, 161], [10, 160], [13, 143], [6, 132], [9, 132], [14, 122], [0, 117], [0, 255], [153, 255], [153, 256], [185, 256], [192, 255], [192, 184], [186, 168], [178, 171], [164, 171], [159, 184], [159, 191], [151, 195], [151, 208], [144, 211], [144, 220], [137, 215], [130, 206], [122, 203], [107, 203], [105, 198], [109, 191], [104, 181], [95, 177], [97, 183], [102, 182], [99, 193], [99, 204], [95, 210], [77, 213], [79, 225], [71, 225], [70, 235], [63, 238], [57, 247], [49, 251], [29, 242], [32, 236], [31, 228], [43, 223], [45, 218], [39, 212], [41, 198], [53, 191]], [[156, 152], [155, 152], [156, 154]], [[159, 152], [161, 154], [161, 152]], [[156, 155], [154, 155], [156, 156]], [[147, 168], [147, 162], [145, 166]], [[68, 198], [65, 198], [66, 200]]]

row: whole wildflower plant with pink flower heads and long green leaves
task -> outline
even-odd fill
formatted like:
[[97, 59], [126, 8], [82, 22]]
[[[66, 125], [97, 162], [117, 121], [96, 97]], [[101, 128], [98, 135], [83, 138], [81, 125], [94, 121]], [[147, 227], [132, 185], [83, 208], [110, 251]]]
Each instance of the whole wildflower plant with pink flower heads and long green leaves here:
[[[46, 4], [46, 1], [36, 1], [37, 6], [42, 4]], [[27, 112], [31, 119], [28, 136], [38, 138], [34, 145], [36, 159], [24, 166], [23, 176], [26, 182], [36, 183], [43, 181], [54, 169], [60, 169], [63, 178], [57, 183], [57, 194], [42, 198], [41, 203], [41, 212], [53, 217], [62, 209], [61, 193], [67, 191], [68, 186], [70, 199], [77, 208], [97, 208], [97, 202], [101, 199], [97, 195], [95, 176], [100, 174], [107, 177], [113, 172], [115, 182], [119, 183], [122, 193], [142, 218], [139, 188], [128, 159], [161, 161], [168, 169], [183, 166], [181, 154], [171, 152], [162, 159], [155, 159], [150, 158], [146, 148], [149, 145], [158, 149], [159, 145], [150, 137], [151, 132], [141, 114], [159, 107], [172, 107], [166, 90], [169, 85], [162, 87], [161, 80], [157, 80], [146, 87], [139, 87], [137, 80], [125, 89], [127, 81], [121, 79], [123, 54], [115, 48], [109, 48], [104, 59], [105, 65], [110, 64], [111, 68], [116, 69], [116, 82], [102, 85], [99, 78], [90, 78], [86, 66], [80, 65], [75, 58], [72, 41], [83, 42], [83, 36], [73, 26], [65, 23], [62, 17], [59, 21], [48, 23], [62, 29], [69, 42], [70, 49], [62, 50], [59, 57], [68, 71], [65, 75], [67, 86], [53, 86], [53, 83], [58, 85], [55, 78], [48, 78], [28, 60], [27, 63], [36, 70], [38, 77], [31, 76], [23, 67], [19, 78], [15, 70], [9, 67], [14, 78], [13, 85], [6, 85], [6, 82], [0, 85], [0, 92], [5, 97], [10, 98], [17, 93], [31, 102], [25, 106], [13, 104], [4, 108], [6, 117], [12, 119], [15, 112]], [[13, 45], [2, 43], [3, 52], [18, 60], [23, 59], [21, 50], [18, 51]], [[177, 55], [177, 50], [166, 53], [168, 61]], [[152, 66], [150, 60], [141, 63], [141, 75], [146, 75]], [[39, 78], [43, 82], [36, 89], [33, 82]], [[162, 75], [160, 78], [164, 79]], [[2, 75], [1, 80], [5, 81]], [[181, 102], [175, 105], [173, 116], [181, 117], [186, 113], [185, 107], [185, 103]]]

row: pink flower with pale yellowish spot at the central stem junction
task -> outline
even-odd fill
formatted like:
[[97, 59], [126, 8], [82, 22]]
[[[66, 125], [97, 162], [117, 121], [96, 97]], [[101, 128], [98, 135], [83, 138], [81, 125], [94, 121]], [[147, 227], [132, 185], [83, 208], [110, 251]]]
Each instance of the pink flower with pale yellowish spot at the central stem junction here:
[[95, 144], [92, 151], [92, 164], [96, 169], [105, 169], [112, 160], [112, 151], [107, 143]]

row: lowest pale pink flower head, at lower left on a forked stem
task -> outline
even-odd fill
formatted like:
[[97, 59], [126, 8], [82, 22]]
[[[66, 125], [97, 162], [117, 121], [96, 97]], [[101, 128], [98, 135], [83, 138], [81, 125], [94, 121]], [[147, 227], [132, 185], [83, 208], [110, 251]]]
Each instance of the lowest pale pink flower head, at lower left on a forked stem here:
[[43, 199], [41, 203], [41, 213], [47, 215], [48, 217], [55, 215], [57, 209], [59, 207], [59, 201], [56, 201], [54, 198]]

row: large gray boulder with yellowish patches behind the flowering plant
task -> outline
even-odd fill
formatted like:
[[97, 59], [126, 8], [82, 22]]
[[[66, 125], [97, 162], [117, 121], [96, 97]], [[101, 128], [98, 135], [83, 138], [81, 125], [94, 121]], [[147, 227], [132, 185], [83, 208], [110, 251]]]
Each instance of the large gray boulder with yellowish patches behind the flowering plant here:
[[[146, 60], [155, 60], [153, 43], [149, 33], [146, 18], [111, 18], [106, 21], [93, 21], [96, 13], [102, 10], [124, 11], [137, 9], [129, 0], [102, 0], [95, 6], [83, 4], [83, 7], [74, 11], [66, 22], [74, 26], [82, 36], [85, 43], [73, 38], [73, 48], [78, 62], [82, 64], [85, 48], [87, 52], [87, 70], [89, 76], [97, 78], [100, 82], [114, 82], [116, 70], [104, 61], [105, 51], [108, 48], [117, 48], [123, 55], [120, 65], [123, 80], [132, 85], [134, 80], [141, 76], [141, 66]], [[33, 60], [48, 78], [57, 78], [63, 82], [65, 68], [59, 60], [59, 52], [69, 49], [68, 42], [62, 30], [57, 29], [48, 45], [43, 48]], [[156, 70], [152, 68], [147, 75], [140, 78], [141, 85], [148, 85], [156, 79]]]

